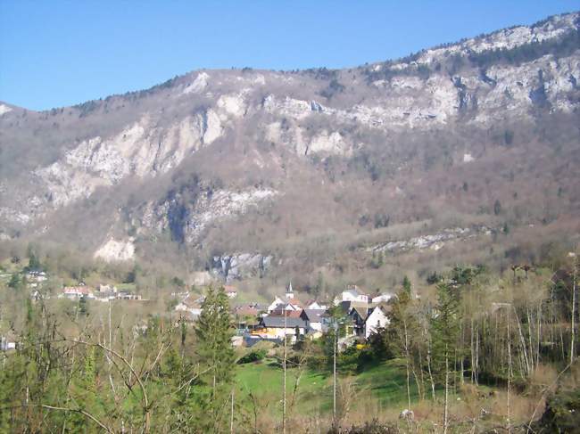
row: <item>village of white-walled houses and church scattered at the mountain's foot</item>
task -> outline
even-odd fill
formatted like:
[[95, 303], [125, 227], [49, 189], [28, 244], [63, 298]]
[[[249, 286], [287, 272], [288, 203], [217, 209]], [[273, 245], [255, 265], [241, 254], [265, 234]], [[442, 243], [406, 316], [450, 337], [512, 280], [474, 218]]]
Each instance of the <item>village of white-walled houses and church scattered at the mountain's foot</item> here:
[[[12, 277], [4, 275], [4, 279]], [[112, 283], [99, 283], [89, 286], [84, 282], [75, 285], [62, 285], [56, 293], [44, 291], [48, 281], [45, 271], [29, 270], [21, 275], [21, 283], [29, 289], [33, 302], [39, 300], [68, 299], [82, 302], [147, 302], [137, 291], [120, 290]], [[13, 280], [13, 277], [12, 277]], [[203, 295], [196, 291], [172, 292], [175, 299], [172, 312], [173, 320], [195, 323], [203, 310]], [[294, 292], [292, 283], [269, 303], [257, 301], [238, 302], [240, 298], [235, 286], [225, 285], [223, 290], [228, 296], [233, 324], [236, 328], [232, 345], [253, 347], [260, 341], [295, 343], [297, 340], [317, 340], [336, 326], [336, 315], [344, 332], [338, 342], [339, 348], [346, 348], [356, 340], [367, 340], [369, 336], [389, 323], [390, 299], [394, 294], [385, 292], [370, 296], [356, 285], [349, 285], [334, 299], [300, 299]], [[203, 290], [201, 291], [203, 293]], [[161, 314], [161, 313], [160, 313]], [[3, 337], [0, 350], [15, 348], [16, 343]]]

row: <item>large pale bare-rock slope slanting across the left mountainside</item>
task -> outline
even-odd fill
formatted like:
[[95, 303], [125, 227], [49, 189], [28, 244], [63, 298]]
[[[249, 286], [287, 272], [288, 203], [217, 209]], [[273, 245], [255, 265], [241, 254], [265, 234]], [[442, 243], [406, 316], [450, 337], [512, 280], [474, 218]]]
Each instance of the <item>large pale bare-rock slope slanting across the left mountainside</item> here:
[[160, 128], [145, 115], [118, 135], [82, 141], [62, 160], [37, 169], [34, 176], [46, 185], [50, 204], [59, 208], [89, 196], [99, 186], [119, 184], [127, 176], [156, 176], [176, 168], [187, 154], [220, 135], [216, 123], [220, 121], [197, 114]]

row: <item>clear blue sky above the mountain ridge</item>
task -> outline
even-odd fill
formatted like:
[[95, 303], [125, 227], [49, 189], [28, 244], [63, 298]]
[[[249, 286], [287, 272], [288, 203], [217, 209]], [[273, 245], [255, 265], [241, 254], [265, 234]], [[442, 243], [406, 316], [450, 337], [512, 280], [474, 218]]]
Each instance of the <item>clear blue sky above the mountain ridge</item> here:
[[0, 0], [0, 101], [32, 110], [201, 68], [340, 68], [401, 57], [580, 0]]

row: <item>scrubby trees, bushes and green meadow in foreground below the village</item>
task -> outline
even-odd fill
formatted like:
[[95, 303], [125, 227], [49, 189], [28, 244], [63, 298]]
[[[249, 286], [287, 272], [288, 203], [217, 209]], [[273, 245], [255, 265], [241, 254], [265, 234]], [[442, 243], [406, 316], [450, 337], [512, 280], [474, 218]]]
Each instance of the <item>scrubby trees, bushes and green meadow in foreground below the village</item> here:
[[[31, 265], [45, 267], [32, 246], [3, 262], [4, 271]], [[272, 344], [235, 350], [223, 291], [205, 292], [203, 314], [192, 325], [162, 304], [149, 313], [118, 305], [107, 312], [109, 306], [90, 301], [30, 299], [25, 285], [4, 279], [0, 331], [18, 345], [1, 355], [0, 426], [568, 432], [576, 424], [580, 373], [577, 266], [576, 256], [564, 252], [501, 274], [455, 266], [431, 274], [429, 283], [404, 279], [387, 307], [390, 323], [337, 352], [336, 395], [332, 328], [286, 350]], [[341, 340], [343, 314], [330, 315], [344, 324]]]

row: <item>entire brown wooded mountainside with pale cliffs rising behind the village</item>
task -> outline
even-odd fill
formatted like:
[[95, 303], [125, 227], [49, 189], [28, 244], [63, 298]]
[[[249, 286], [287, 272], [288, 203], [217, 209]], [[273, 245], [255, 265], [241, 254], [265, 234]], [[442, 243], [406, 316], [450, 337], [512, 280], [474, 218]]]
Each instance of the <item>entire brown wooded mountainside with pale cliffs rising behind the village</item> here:
[[197, 70], [52, 111], [4, 102], [0, 237], [304, 288], [533, 262], [580, 229], [579, 26], [348, 70]]

